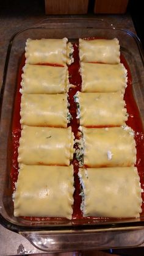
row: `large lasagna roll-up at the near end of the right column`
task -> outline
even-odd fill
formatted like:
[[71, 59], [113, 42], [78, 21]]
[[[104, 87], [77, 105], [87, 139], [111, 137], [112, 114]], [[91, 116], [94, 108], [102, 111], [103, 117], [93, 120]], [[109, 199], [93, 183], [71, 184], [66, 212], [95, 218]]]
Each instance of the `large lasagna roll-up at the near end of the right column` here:
[[136, 167], [79, 170], [84, 217], [137, 218], [142, 212]]

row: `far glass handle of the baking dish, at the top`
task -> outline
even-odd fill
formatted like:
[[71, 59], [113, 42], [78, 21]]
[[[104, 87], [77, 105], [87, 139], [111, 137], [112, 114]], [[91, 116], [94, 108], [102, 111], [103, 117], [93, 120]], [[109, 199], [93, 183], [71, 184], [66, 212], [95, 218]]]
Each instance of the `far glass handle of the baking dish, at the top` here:
[[110, 24], [107, 22], [107, 20], [104, 19], [93, 19], [93, 18], [46, 18], [44, 20], [38, 21], [34, 25], [34, 27], [37, 26], [43, 26], [43, 27], [57, 27], [62, 26], [64, 24], [66, 27], [101, 27], [103, 28], [112, 28], [115, 29], [115, 26], [113, 24]]

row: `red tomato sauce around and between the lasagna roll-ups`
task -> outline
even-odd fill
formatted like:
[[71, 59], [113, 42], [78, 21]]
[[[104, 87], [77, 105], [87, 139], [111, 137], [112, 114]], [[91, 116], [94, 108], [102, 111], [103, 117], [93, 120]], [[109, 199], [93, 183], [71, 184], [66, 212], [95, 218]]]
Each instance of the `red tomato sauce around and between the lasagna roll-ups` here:
[[[91, 38], [92, 39], [92, 38]], [[77, 138], [77, 131], [79, 128], [79, 122], [76, 119], [76, 103], [74, 103], [73, 96], [77, 92], [77, 90], [81, 90], [81, 74], [79, 73], [79, 51], [78, 46], [76, 43], [73, 44], [74, 47], [74, 63], [71, 64], [68, 67], [69, 71], [69, 81], [70, 84], [73, 84], [75, 87], [71, 87], [68, 92], [68, 101], [70, 103], [70, 113], [73, 117], [70, 124], [68, 126], [71, 126], [72, 131], [74, 133], [74, 136]], [[128, 121], [126, 124], [128, 126], [131, 126], [131, 128], [135, 131], [135, 142], [136, 142], [136, 148], [137, 148], [137, 163], [135, 166], [137, 166], [139, 176], [140, 176], [140, 182], [142, 189], [144, 189], [144, 183], [143, 183], [143, 167], [144, 167], [144, 138], [143, 138], [143, 125], [139, 114], [139, 109], [137, 108], [137, 104], [135, 103], [133, 94], [132, 94], [132, 76], [131, 71], [129, 70], [128, 64], [123, 56], [120, 57], [121, 63], [124, 64], [124, 67], [128, 70], [128, 86], [126, 87], [126, 92], [124, 94], [124, 100], [126, 101], [126, 108], [127, 112], [129, 114]], [[15, 182], [18, 178], [18, 147], [19, 147], [19, 139], [21, 135], [21, 125], [20, 125], [20, 103], [21, 103], [21, 74], [23, 73], [23, 66], [25, 64], [25, 57], [23, 55], [21, 59], [20, 69], [18, 71], [18, 84], [16, 89], [16, 96], [15, 96], [15, 105], [14, 105], [14, 111], [13, 111], [13, 123], [12, 123], [12, 169], [10, 172], [10, 177], [12, 180], [12, 189], [15, 191]], [[47, 64], [49, 65], [49, 64]], [[54, 66], [62, 66], [62, 65], [56, 65], [56, 64], [50, 64]], [[99, 218], [99, 217], [82, 217], [81, 212], [81, 196], [79, 196], [81, 192], [79, 178], [78, 178], [78, 162], [75, 158], [73, 158], [72, 164], [74, 166], [74, 205], [73, 205], [73, 217], [74, 219], [83, 219], [83, 223], [87, 223], [88, 220], [97, 221], [97, 222], [106, 222], [106, 221], [112, 221], [112, 218]], [[142, 199], [144, 200], [144, 193], [142, 193]], [[142, 214], [144, 213], [144, 203], [142, 203]], [[40, 217], [21, 217], [24, 219], [27, 219], [29, 221], [49, 221], [49, 220], [61, 220], [64, 218], [40, 218]]]

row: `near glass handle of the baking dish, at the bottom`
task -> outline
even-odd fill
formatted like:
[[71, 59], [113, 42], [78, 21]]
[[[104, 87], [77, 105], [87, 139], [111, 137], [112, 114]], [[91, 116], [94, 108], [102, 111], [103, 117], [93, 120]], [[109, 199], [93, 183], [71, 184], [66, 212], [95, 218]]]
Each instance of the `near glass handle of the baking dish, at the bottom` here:
[[82, 232], [21, 232], [35, 247], [47, 252], [79, 251], [139, 246], [144, 242], [144, 230], [107, 230]]

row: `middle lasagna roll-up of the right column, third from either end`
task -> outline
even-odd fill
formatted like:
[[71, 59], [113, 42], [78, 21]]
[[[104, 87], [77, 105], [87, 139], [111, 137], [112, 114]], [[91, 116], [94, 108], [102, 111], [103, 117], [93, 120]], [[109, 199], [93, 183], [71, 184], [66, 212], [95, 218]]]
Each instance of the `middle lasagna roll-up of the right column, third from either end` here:
[[121, 126], [128, 120], [120, 92], [83, 93], [74, 96], [82, 126]]

